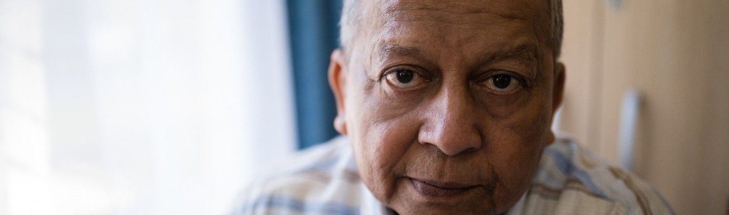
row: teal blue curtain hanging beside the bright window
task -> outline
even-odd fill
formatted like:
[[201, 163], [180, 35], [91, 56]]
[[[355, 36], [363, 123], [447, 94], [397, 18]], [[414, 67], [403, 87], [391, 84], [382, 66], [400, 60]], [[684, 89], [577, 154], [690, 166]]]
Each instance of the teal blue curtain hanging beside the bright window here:
[[334, 97], [327, 81], [329, 57], [338, 46], [341, 0], [287, 0], [298, 146], [337, 135]]

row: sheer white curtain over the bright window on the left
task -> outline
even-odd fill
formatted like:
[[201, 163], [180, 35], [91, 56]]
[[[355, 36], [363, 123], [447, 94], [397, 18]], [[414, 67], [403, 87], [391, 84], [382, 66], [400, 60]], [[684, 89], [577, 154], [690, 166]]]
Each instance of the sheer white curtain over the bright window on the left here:
[[0, 214], [224, 214], [295, 150], [282, 1], [0, 0]]

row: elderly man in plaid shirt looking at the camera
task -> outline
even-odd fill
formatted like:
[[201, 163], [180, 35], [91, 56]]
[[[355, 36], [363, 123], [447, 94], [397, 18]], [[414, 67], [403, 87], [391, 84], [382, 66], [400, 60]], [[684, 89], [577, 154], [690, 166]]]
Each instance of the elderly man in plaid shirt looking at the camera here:
[[343, 137], [235, 214], [671, 214], [550, 131], [561, 16], [560, 0], [346, 1], [329, 68]]

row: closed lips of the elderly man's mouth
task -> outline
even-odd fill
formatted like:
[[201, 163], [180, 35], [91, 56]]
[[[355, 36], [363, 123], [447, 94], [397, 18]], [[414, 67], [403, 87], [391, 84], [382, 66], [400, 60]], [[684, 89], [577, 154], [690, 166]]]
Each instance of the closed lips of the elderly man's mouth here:
[[410, 178], [410, 181], [413, 182], [413, 187], [415, 187], [415, 190], [418, 190], [418, 192], [420, 192], [422, 195], [431, 198], [447, 198], [456, 195], [463, 195], [477, 186], [475, 184], [463, 184], [459, 182], [434, 182], [413, 178]]

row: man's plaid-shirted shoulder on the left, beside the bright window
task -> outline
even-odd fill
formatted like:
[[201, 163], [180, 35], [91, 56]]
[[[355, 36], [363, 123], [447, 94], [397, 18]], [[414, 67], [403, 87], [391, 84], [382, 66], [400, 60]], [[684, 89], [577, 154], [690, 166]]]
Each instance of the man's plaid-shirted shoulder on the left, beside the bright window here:
[[352, 162], [345, 137], [304, 150], [246, 187], [233, 214], [356, 214]]

